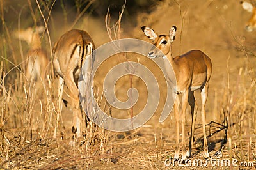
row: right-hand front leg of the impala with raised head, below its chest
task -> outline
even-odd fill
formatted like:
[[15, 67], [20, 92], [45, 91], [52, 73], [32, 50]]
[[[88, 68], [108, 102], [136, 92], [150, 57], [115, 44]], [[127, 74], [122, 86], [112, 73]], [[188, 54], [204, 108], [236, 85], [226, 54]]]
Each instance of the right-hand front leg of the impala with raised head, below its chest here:
[[182, 128], [182, 160], [186, 160], [186, 141], [185, 141], [185, 116], [186, 116], [186, 106], [188, 102], [188, 90], [184, 91], [182, 95], [182, 108], [181, 108], [181, 128]]

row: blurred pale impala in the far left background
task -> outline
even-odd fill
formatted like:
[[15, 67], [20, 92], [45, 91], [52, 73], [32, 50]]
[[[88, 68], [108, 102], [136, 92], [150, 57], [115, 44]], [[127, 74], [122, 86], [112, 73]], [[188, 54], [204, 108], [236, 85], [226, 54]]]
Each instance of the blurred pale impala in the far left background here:
[[42, 78], [44, 82], [45, 74], [47, 72], [47, 65], [49, 59], [41, 47], [39, 33], [44, 31], [44, 27], [29, 27], [25, 30], [15, 32], [15, 37], [19, 40], [24, 40], [28, 43], [30, 49], [27, 54], [28, 61], [26, 62], [26, 77], [29, 82], [37, 81]]

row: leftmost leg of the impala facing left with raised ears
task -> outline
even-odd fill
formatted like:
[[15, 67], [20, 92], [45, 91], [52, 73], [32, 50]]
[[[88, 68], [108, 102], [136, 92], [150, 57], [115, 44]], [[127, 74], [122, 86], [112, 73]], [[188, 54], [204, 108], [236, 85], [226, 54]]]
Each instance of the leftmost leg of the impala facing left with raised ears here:
[[174, 103], [174, 116], [176, 121], [176, 147], [175, 147], [175, 159], [179, 159], [180, 143], [179, 143], [179, 95], [176, 95]]

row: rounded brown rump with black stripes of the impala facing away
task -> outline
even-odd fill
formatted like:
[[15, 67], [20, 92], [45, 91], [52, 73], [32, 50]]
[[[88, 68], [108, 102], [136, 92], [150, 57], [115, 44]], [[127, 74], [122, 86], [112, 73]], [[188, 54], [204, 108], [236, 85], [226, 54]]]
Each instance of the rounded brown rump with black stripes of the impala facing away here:
[[72, 29], [61, 36], [54, 46], [54, 67], [56, 72], [63, 77], [64, 72], [74, 70], [78, 76], [85, 57], [91, 54], [95, 45], [88, 33], [79, 29]]

